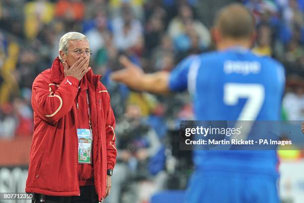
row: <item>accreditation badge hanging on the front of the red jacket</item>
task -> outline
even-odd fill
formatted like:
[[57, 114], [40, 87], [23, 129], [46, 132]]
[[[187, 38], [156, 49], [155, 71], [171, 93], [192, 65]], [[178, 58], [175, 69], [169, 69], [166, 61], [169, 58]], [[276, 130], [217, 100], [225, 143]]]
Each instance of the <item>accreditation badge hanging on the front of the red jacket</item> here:
[[91, 164], [92, 163], [92, 130], [91, 129], [77, 129], [78, 137], [78, 163]]

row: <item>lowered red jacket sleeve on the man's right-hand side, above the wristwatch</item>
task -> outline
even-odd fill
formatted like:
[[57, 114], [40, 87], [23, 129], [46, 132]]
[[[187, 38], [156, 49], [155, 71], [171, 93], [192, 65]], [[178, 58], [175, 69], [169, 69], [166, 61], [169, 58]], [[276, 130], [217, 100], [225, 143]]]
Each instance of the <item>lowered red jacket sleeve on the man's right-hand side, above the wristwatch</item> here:
[[113, 170], [116, 163], [117, 149], [115, 145], [115, 117], [111, 108], [110, 100], [108, 102], [105, 130], [107, 142], [107, 169]]

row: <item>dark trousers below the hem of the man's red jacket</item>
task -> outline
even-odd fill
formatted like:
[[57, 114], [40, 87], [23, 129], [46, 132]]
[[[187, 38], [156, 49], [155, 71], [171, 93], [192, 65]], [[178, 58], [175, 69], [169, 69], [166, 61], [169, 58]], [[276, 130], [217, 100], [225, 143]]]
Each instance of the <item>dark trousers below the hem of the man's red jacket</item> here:
[[48, 196], [34, 194], [32, 203], [98, 203], [94, 186], [81, 186], [80, 196]]

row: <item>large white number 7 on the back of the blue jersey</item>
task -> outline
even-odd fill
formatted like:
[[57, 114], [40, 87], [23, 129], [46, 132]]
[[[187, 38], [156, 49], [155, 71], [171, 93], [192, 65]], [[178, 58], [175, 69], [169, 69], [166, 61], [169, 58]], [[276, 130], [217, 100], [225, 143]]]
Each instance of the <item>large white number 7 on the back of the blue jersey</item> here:
[[255, 120], [264, 103], [264, 86], [241, 83], [226, 83], [224, 85], [224, 103], [226, 105], [236, 105], [240, 98], [247, 99], [247, 101], [237, 120]]

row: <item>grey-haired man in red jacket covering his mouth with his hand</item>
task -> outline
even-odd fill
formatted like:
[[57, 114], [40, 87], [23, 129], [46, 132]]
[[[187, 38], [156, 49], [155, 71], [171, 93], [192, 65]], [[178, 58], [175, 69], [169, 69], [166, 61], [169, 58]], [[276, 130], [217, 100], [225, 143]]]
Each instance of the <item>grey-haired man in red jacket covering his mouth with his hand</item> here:
[[88, 66], [90, 55], [83, 34], [66, 33], [59, 57], [33, 83], [25, 191], [35, 194], [35, 203], [98, 203], [110, 193], [115, 118], [101, 76]]

